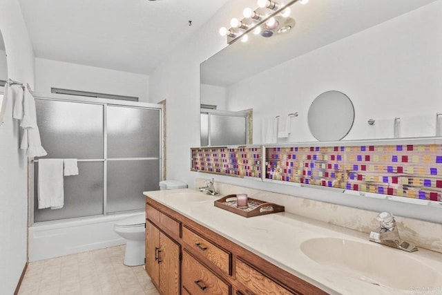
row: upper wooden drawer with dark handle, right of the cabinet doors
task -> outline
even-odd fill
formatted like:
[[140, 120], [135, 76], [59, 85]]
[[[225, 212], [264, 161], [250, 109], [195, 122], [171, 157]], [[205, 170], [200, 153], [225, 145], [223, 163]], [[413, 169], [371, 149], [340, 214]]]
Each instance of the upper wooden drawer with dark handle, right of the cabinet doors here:
[[230, 275], [230, 254], [217, 245], [209, 242], [199, 234], [183, 227], [182, 240], [194, 249], [195, 252], [207, 258], [213, 265], [222, 270], [222, 272]]

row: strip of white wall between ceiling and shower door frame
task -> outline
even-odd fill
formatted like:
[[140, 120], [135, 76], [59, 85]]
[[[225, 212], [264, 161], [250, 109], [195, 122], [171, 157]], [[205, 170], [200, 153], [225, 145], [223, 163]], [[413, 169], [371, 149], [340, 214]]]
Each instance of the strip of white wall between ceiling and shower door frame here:
[[35, 91], [50, 93], [52, 87], [134, 96], [139, 102], [151, 102], [147, 75], [36, 58]]

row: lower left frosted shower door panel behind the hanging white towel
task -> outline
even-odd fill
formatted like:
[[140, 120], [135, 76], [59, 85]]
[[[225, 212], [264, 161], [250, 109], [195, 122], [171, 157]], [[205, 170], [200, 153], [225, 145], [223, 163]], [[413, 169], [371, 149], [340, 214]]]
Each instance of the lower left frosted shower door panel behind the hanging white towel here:
[[[35, 222], [103, 214], [103, 162], [78, 162], [79, 175], [64, 177], [64, 207], [38, 209], [35, 190]], [[35, 163], [37, 188], [38, 163]]]

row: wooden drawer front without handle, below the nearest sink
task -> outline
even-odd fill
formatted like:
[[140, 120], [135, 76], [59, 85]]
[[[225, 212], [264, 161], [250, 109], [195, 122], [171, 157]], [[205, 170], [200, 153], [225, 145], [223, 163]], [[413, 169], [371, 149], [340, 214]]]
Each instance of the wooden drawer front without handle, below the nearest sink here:
[[236, 280], [253, 294], [294, 294], [238, 258], [235, 265]]

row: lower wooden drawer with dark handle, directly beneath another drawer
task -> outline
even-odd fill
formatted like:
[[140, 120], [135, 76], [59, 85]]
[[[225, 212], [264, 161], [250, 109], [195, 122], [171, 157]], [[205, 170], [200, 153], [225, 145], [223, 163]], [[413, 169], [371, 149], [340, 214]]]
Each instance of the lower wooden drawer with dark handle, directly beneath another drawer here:
[[189, 294], [230, 294], [230, 285], [204, 267], [187, 251], [182, 253], [182, 286]]

